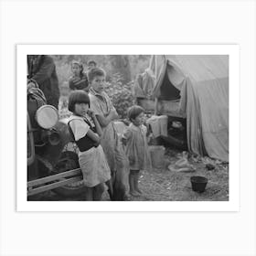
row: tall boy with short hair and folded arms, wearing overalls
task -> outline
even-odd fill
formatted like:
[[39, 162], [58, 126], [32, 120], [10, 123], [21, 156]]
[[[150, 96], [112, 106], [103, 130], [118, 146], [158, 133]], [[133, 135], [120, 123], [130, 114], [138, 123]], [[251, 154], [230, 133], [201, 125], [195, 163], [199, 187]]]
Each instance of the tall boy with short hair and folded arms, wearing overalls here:
[[91, 86], [89, 93], [91, 110], [95, 112], [102, 128], [101, 146], [112, 173], [112, 184], [107, 184], [108, 187], [113, 187], [112, 200], [123, 201], [126, 199], [128, 188], [129, 162], [123, 152], [113, 122], [118, 118], [118, 114], [112, 105], [111, 99], [104, 91], [105, 77], [106, 74], [103, 69], [94, 68], [88, 72], [88, 80]]

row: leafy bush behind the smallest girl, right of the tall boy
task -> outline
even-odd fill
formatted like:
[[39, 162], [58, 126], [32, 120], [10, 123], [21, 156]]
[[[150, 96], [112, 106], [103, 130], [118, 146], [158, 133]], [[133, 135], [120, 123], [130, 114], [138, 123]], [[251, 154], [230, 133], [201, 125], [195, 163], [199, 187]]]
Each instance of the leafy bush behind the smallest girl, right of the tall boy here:
[[120, 73], [112, 75], [112, 80], [106, 83], [105, 91], [112, 100], [112, 104], [122, 119], [126, 117], [127, 110], [134, 104], [133, 81], [123, 84]]

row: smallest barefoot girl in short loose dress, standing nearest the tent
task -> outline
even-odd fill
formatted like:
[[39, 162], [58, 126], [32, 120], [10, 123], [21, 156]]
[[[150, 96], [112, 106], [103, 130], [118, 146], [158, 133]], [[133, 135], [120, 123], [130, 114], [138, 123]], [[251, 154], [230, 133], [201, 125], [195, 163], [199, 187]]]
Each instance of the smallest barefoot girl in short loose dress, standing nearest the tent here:
[[138, 187], [140, 170], [151, 169], [151, 159], [146, 140], [147, 129], [143, 124], [144, 109], [137, 105], [131, 107], [128, 110], [128, 118], [132, 123], [123, 133], [123, 144], [126, 144], [125, 152], [130, 162], [130, 194], [137, 197], [142, 193]]

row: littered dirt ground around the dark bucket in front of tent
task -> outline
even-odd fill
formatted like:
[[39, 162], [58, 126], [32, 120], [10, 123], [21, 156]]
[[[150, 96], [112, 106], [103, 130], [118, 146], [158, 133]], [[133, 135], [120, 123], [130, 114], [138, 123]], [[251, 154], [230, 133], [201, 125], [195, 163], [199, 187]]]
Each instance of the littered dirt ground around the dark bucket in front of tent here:
[[[229, 164], [214, 161], [208, 157], [188, 157], [192, 166], [191, 172], [178, 172], [170, 170], [168, 166], [175, 166], [176, 161], [182, 157], [182, 152], [176, 149], [165, 148], [165, 159], [161, 168], [152, 171], [142, 171], [139, 185], [143, 195], [129, 197], [130, 201], [228, 201], [229, 200]], [[214, 165], [208, 170], [207, 164]], [[171, 168], [172, 169], [172, 168]], [[193, 171], [194, 169], [194, 171]], [[205, 176], [208, 178], [206, 190], [203, 193], [194, 192], [190, 183], [190, 176]], [[42, 201], [82, 201], [84, 195], [79, 197], [61, 197], [48, 191], [29, 198], [29, 200]], [[110, 200], [105, 191], [103, 201]]]

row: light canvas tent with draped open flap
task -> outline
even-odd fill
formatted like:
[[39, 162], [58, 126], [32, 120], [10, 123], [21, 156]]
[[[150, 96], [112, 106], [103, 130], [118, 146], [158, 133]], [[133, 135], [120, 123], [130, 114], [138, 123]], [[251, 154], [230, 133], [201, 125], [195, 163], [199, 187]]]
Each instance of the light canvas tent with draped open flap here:
[[152, 56], [153, 98], [178, 101], [188, 150], [229, 161], [229, 56]]

